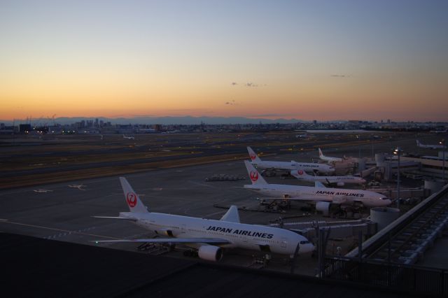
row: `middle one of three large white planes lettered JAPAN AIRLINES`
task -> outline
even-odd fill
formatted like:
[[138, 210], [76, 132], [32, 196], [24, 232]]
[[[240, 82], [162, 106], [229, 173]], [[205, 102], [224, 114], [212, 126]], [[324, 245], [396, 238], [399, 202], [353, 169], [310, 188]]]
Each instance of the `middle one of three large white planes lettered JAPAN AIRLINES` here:
[[319, 182], [319, 187], [268, 184], [257, 170], [247, 160], [244, 161], [252, 184], [244, 188], [267, 196], [265, 199], [290, 199], [316, 204], [316, 210], [328, 213], [330, 203], [340, 205], [362, 205], [365, 207], [380, 207], [391, 204], [391, 200], [383, 194], [368, 190], [347, 190], [342, 188], [325, 188]]

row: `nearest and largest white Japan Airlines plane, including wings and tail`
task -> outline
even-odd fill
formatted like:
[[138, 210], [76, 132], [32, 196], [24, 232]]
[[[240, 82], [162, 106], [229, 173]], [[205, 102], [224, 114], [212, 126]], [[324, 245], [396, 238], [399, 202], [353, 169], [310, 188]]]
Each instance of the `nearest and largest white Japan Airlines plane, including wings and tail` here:
[[179, 243], [197, 249], [199, 257], [209, 261], [221, 260], [222, 248], [246, 248], [282, 255], [293, 255], [297, 245], [299, 253], [309, 253], [314, 250], [314, 246], [304, 236], [288, 229], [240, 223], [237, 206], [230, 206], [221, 220], [149, 212], [127, 180], [120, 177], [120, 183], [130, 212], [120, 212], [118, 217], [95, 216], [95, 218], [130, 220], [141, 227], [170, 238], [106, 240], [95, 241], [96, 243]]

